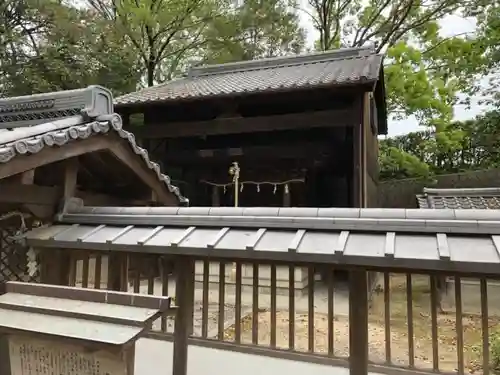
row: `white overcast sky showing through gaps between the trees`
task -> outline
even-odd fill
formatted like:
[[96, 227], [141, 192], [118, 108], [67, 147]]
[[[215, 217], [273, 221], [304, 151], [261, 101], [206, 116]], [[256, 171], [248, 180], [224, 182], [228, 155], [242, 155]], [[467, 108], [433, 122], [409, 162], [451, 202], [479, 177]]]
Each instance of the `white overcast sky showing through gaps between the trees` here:
[[[302, 0], [306, 3], [306, 0]], [[307, 44], [312, 46], [314, 41], [318, 39], [318, 32], [314, 30], [312, 22], [306, 13], [301, 12], [302, 26], [307, 30]], [[443, 36], [453, 36], [467, 32], [474, 32], [476, 23], [473, 18], [463, 18], [457, 15], [449, 15], [441, 22], [441, 34]], [[474, 118], [478, 114], [484, 112], [487, 108], [477, 103], [479, 98], [473, 98], [470, 108], [464, 105], [457, 105], [454, 108], [455, 120], [468, 120]], [[404, 120], [389, 120], [389, 134], [388, 136], [403, 135], [409, 132], [423, 129], [418, 126], [418, 122], [414, 117], [409, 117]]]

